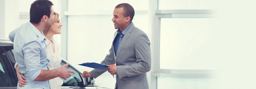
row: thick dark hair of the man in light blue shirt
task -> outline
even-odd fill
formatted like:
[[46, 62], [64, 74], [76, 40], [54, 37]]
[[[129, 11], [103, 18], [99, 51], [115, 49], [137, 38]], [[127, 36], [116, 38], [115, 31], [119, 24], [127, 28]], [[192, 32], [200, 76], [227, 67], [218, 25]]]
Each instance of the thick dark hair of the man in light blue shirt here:
[[51, 14], [53, 3], [49, 0], [37, 0], [30, 6], [30, 22], [38, 24], [44, 15]]

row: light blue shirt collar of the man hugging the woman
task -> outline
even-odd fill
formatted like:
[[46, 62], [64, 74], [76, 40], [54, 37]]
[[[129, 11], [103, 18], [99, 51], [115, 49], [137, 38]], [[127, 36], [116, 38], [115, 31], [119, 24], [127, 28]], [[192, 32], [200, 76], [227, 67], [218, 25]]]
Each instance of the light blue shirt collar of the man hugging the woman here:
[[35, 26], [30, 21], [28, 22], [28, 26], [35, 34], [37, 34], [38, 38], [40, 38], [42, 41], [46, 41], [45, 35], [43, 35], [43, 31], [40, 33], [39, 30], [35, 28]]

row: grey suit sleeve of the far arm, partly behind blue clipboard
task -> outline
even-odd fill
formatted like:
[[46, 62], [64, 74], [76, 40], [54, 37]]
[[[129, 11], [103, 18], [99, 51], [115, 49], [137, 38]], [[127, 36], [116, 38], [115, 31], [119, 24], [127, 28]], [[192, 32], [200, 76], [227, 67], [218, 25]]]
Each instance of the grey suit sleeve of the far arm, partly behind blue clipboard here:
[[[109, 50], [109, 54], [106, 55], [105, 59], [101, 62], [101, 64], [104, 64], [104, 65], [115, 64], [113, 46], [111, 46], [111, 48]], [[94, 69], [90, 72], [90, 74], [93, 78], [97, 78], [99, 75], [103, 74], [104, 72], [106, 72], [106, 71]]]

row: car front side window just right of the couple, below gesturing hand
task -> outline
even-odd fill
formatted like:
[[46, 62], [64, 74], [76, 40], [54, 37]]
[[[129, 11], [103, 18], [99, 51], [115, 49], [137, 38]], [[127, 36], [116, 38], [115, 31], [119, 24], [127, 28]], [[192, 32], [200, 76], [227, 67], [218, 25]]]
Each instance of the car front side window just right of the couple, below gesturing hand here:
[[[61, 66], [64, 64], [65, 63], [61, 62]], [[74, 71], [75, 74], [70, 73], [71, 74], [70, 78], [67, 78], [67, 80], [62, 79], [64, 82], [62, 84], [62, 86], [83, 86], [83, 82], [82, 82], [80, 74], [77, 71], [75, 71], [73, 68], [71, 68], [70, 66], [67, 66], [66, 68]]]

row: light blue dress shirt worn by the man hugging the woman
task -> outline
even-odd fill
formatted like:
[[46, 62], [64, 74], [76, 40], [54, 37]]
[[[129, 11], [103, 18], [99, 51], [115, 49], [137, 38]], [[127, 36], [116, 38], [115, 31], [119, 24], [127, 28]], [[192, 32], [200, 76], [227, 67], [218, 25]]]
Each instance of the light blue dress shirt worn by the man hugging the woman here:
[[50, 89], [48, 81], [33, 81], [41, 72], [41, 69], [48, 70], [46, 38], [42, 32], [30, 22], [21, 25], [9, 34], [13, 42], [14, 56], [19, 65], [19, 72], [25, 75], [27, 84], [20, 89], [44, 88]]

